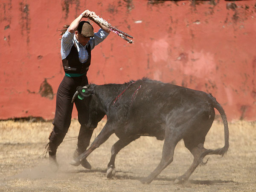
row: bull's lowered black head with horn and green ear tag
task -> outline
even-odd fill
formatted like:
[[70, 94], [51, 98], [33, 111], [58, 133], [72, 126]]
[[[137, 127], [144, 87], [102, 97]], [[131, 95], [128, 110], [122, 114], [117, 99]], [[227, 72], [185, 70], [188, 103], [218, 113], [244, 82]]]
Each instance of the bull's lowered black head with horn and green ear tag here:
[[94, 84], [90, 84], [85, 87], [77, 87], [77, 91], [72, 98], [72, 102], [75, 102], [76, 99], [81, 99], [88, 104], [86, 110], [88, 110], [89, 119], [86, 126], [90, 129], [96, 128], [98, 122], [105, 116], [101, 102], [99, 101], [99, 98], [94, 94], [95, 86], [96, 85]]

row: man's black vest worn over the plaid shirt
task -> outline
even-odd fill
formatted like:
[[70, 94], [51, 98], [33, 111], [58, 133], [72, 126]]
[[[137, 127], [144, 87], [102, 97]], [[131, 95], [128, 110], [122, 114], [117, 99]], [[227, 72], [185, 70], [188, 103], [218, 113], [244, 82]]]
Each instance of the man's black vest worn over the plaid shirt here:
[[81, 63], [79, 61], [78, 51], [75, 45], [73, 45], [73, 47], [70, 50], [70, 54], [67, 55], [66, 58], [62, 59], [62, 64], [63, 64], [65, 73], [79, 73], [79, 74], [87, 73], [90, 66], [90, 60], [91, 60], [90, 44], [88, 44], [88, 47], [86, 48], [86, 50], [88, 52], [89, 57], [85, 63]]

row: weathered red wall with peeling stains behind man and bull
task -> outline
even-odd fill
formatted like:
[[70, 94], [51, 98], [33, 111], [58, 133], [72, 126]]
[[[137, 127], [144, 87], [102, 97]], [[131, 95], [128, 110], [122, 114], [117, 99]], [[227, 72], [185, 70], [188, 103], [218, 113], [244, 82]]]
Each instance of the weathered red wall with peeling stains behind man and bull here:
[[91, 83], [147, 76], [212, 93], [229, 121], [256, 120], [254, 0], [1, 0], [0, 119], [54, 117], [58, 30], [84, 9], [134, 36], [111, 33], [93, 50]]

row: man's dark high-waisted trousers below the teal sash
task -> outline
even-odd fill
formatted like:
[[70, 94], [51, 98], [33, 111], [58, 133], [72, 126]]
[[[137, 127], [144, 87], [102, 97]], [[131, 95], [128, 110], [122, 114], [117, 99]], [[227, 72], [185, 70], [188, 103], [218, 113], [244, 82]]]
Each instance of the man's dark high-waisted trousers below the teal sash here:
[[[72, 97], [76, 92], [76, 87], [85, 86], [88, 84], [87, 76], [81, 77], [67, 77], [64, 76], [61, 84], [58, 87], [56, 96], [56, 110], [53, 121], [53, 130], [49, 136], [49, 155], [55, 155], [58, 145], [63, 141], [68, 128], [70, 127], [73, 103]], [[78, 120], [81, 124], [79, 137], [78, 137], [78, 149], [81, 152], [85, 151], [90, 143], [93, 130], [87, 129], [85, 126], [88, 121], [87, 100], [76, 99], [75, 105], [78, 111]]]

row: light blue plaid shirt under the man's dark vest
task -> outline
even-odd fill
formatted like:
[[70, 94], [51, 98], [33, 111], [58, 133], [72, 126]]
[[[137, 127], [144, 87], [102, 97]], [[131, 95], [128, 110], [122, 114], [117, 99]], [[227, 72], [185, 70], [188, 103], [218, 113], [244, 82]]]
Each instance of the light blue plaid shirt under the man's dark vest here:
[[[94, 33], [94, 37], [90, 38], [88, 42], [90, 44], [91, 50], [100, 42], [102, 42], [107, 36], [108, 36], [108, 33], [105, 32], [103, 29], [99, 29], [98, 32]], [[61, 38], [61, 58], [62, 59], [66, 58], [70, 54], [70, 50], [73, 47], [73, 45], [76, 44], [76, 48], [78, 50], [78, 55], [79, 55], [79, 61], [81, 63], [85, 63], [89, 56], [86, 50], [88, 43], [85, 46], [82, 46], [76, 40], [75, 32], [70, 33], [66, 31]]]

